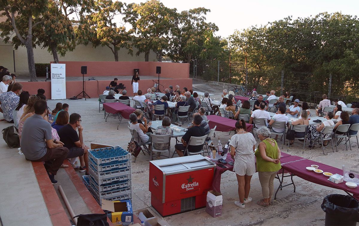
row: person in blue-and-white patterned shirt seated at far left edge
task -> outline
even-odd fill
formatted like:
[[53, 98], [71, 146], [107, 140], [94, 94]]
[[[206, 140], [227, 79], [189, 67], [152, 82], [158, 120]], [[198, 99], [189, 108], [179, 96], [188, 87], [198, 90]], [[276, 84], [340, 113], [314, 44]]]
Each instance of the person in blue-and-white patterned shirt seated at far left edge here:
[[22, 90], [21, 83], [15, 83], [10, 92], [4, 92], [0, 95], [0, 112], [3, 113], [4, 119], [10, 123], [14, 123], [13, 112], [19, 104], [20, 97], [18, 94], [20, 90]]

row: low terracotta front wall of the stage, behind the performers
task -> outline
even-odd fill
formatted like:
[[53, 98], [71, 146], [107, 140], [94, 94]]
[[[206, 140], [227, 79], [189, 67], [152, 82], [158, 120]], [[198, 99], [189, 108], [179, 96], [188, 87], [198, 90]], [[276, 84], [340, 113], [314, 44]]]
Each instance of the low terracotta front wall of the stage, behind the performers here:
[[[109, 85], [111, 81], [85, 81], [85, 92], [91, 98], [98, 98], [99, 94], [102, 94], [105, 90], [105, 87]], [[118, 80], [117, 82], [123, 83], [126, 86], [126, 90], [129, 96], [132, 96], [132, 86], [130, 80]], [[179, 85], [180, 87], [187, 87], [188, 90], [192, 89], [192, 79], [191, 78], [182, 78], [182, 79], [164, 79], [161, 80], [162, 85], [167, 88], [169, 85], [173, 87]], [[51, 82], [21, 82], [23, 85], [23, 90], [30, 92], [30, 94], [37, 94], [37, 89], [44, 89], [45, 95], [48, 99], [51, 99]], [[139, 89], [144, 93], [147, 92], [147, 89], [153, 87], [153, 81], [151, 79], [140, 80]], [[161, 87], [162, 89], [162, 87]], [[82, 81], [67, 81], [66, 82], [66, 98], [71, 98], [72, 96], [78, 95], [82, 91]]]

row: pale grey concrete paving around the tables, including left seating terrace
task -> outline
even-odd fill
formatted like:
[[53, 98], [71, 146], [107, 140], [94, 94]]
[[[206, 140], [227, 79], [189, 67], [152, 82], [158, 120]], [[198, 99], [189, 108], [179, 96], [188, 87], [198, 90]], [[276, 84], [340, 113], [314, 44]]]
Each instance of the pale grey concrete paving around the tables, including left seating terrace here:
[[[220, 98], [222, 91], [200, 80], [194, 81], [193, 87], [194, 90], [210, 91], [211, 93], [218, 94], [216, 99]], [[53, 108], [57, 102], [59, 101], [48, 100], [48, 105]], [[69, 113], [76, 112], [81, 115], [85, 144], [89, 145], [94, 142], [120, 145], [123, 148], [127, 147], [127, 143], [130, 141], [127, 121], [121, 122], [119, 130], [116, 129], [118, 119], [109, 117], [107, 122], [105, 122], [103, 111], [98, 112], [97, 99], [61, 100], [60, 102], [70, 105]], [[2, 122], [0, 126], [5, 128], [8, 124]], [[231, 135], [233, 135], [233, 132]], [[230, 137], [228, 132], [216, 132], [217, 136], [221, 138], [223, 144]], [[352, 151], [346, 151], [345, 147], [340, 146], [339, 152], [332, 153], [331, 149], [326, 149], [325, 155], [322, 154], [322, 150], [319, 148], [314, 150], [306, 149], [304, 154], [302, 154], [302, 149], [293, 148], [287, 153], [338, 168], [341, 168], [343, 164], [351, 164], [358, 167], [358, 146], [355, 145], [354, 147], [354, 144], [352, 145]], [[6, 175], [0, 178], [0, 189], [2, 191], [0, 196], [0, 216], [3, 219], [4, 225], [29, 224], [24, 222], [31, 222], [31, 225], [50, 225], [51, 221], [49, 223], [43, 209], [45, 204], [42, 201], [31, 164], [24, 161], [15, 149], [6, 148], [4, 141], [0, 141], [0, 146], [3, 148], [1, 151], [0, 169]], [[282, 149], [282, 151], [286, 152], [286, 148]], [[150, 192], [148, 191], [148, 166], [149, 156], [144, 156], [143, 154], [140, 154], [136, 163], [132, 164], [134, 210], [150, 207], [151, 205]], [[74, 188], [71, 188], [72, 183], [61, 176], [63, 175], [62, 173], [65, 173], [61, 171], [63, 169], [60, 169], [57, 179], [63, 187], [68, 186], [66, 194], [71, 193], [74, 191]], [[289, 178], [286, 181], [288, 180]], [[239, 209], [233, 203], [235, 200], [238, 200], [236, 176], [233, 172], [227, 171], [222, 175], [221, 190], [224, 199], [222, 216], [212, 218], [205, 212], [205, 208], [202, 208], [164, 217], [163, 219], [168, 222], [168, 225], [323, 225], [325, 219], [325, 213], [321, 209], [323, 198], [328, 194], [345, 193], [304, 181], [298, 177], [294, 177], [294, 181], [297, 186], [296, 193], [293, 193], [293, 187], [285, 187], [278, 193], [277, 200], [269, 208], [260, 207], [256, 204], [256, 201], [261, 199], [262, 196], [258, 174], [256, 173], [253, 175], [251, 182], [250, 196], [253, 198], [253, 203], [246, 204], [246, 209]], [[278, 181], [275, 181], [275, 187], [278, 187], [278, 184]], [[29, 193], [34, 196], [33, 199], [29, 199]], [[83, 208], [83, 203], [80, 203], [80, 200], [77, 201], [78, 197], [76, 197], [76, 194], [74, 194], [73, 199], [76, 200], [73, 204], [75, 213], [87, 212], [87, 209]], [[24, 205], [24, 200], [26, 200], [25, 203], [31, 203], [31, 205]], [[22, 214], [18, 214], [13, 210]], [[151, 210], [157, 214], [153, 208]], [[25, 218], [22, 215], [28, 216]], [[30, 221], [29, 217], [34, 221]], [[37, 223], [34, 223], [36, 220]]]

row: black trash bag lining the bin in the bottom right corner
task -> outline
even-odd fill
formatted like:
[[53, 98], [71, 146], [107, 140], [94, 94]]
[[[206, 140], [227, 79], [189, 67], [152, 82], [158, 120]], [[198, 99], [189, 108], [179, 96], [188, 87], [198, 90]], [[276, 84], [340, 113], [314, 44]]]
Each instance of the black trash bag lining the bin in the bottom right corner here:
[[331, 194], [323, 199], [325, 225], [356, 225], [359, 222], [359, 202], [349, 195]]

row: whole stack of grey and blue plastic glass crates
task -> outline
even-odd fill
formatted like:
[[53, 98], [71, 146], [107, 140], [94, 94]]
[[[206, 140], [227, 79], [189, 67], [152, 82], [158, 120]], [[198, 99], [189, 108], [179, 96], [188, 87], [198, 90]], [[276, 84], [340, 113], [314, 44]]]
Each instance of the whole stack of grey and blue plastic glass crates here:
[[89, 190], [101, 199], [132, 200], [131, 154], [120, 146], [89, 150]]

